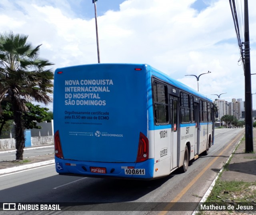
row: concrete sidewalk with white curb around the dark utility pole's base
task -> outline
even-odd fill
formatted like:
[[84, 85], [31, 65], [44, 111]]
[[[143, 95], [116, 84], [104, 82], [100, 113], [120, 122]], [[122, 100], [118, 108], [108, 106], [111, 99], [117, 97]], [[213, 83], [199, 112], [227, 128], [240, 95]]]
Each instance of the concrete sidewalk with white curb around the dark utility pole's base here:
[[[245, 137], [242, 138], [239, 145], [233, 151], [233, 155], [230, 155], [229, 163], [226, 166], [227, 170], [224, 170], [222, 167], [220, 173], [217, 175], [216, 179], [220, 177], [222, 181], [242, 181], [242, 182], [252, 182], [256, 183], [256, 129], [253, 129], [253, 149], [254, 153], [245, 153]], [[220, 176], [219, 176], [220, 175]], [[212, 185], [209, 187], [208, 191], [200, 201], [204, 203], [207, 197], [210, 195], [212, 189], [216, 186], [215, 181], [213, 181]], [[253, 199], [250, 199], [254, 208], [256, 207], [256, 185], [250, 186], [248, 189], [243, 190], [236, 196], [234, 193], [229, 193], [222, 188], [222, 193], [228, 193], [229, 198], [222, 198], [221, 202], [233, 202], [231, 199], [236, 199], [236, 197], [243, 196], [254, 196]], [[221, 203], [220, 203], [221, 205]], [[196, 209], [193, 215], [198, 213], [198, 209]], [[202, 211], [203, 215], [256, 215], [256, 211]]]

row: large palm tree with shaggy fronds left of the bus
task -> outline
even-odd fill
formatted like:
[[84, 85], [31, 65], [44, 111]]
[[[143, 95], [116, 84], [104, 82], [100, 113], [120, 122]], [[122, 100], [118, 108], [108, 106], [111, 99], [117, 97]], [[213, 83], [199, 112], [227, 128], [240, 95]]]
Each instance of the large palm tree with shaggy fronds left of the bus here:
[[25, 146], [22, 113], [28, 111], [29, 101], [49, 104], [52, 98], [53, 65], [39, 57], [39, 48], [27, 42], [28, 36], [6, 32], [0, 34], [0, 101], [12, 104], [15, 124], [16, 160], [23, 159]]

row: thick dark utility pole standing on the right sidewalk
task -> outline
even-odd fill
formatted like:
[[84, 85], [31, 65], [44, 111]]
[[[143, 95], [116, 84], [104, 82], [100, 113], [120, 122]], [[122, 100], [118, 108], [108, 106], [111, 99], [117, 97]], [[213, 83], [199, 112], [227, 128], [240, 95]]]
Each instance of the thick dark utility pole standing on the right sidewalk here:
[[253, 151], [252, 86], [250, 66], [250, 37], [248, 0], [244, 0], [244, 80], [245, 80], [245, 152]]

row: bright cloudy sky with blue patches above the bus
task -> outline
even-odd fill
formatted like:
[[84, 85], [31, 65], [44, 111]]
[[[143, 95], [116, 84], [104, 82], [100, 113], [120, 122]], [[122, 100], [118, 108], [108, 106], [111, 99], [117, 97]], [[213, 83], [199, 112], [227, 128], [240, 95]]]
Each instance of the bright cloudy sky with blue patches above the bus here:
[[[244, 7], [239, 2], [241, 22]], [[249, 2], [251, 73], [256, 73], [256, 1]], [[244, 72], [228, 0], [98, 0], [101, 63], [139, 63], [212, 100], [244, 100]], [[243, 23], [242, 23], [243, 26]], [[42, 44], [53, 69], [98, 62], [92, 0], [1, 0], [0, 32]], [[243, 29], [242, 29], [243, 32]], [[256, 75], [252, 76], [252, 93]], [[256, 94], [252, 96], [256, 108]], [[48, 106], [52, 110], [52, 105]]]

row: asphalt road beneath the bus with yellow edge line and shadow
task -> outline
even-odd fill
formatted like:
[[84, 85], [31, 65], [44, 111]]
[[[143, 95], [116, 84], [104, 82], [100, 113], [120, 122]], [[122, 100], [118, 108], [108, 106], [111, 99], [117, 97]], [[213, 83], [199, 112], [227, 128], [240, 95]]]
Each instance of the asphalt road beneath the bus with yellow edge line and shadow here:
[[[92, 203], [80, 207], [70, 205], [67, 209], [74, 210], [72, 214], [192, 214], [194, 202], [200, 201], [242, 133], [244, 129], [216, 129], [215, 143], [207, 156], [190, 162], [186, 173], [175, 171], [153, 181], [60, 176], [54, 165], [6, 174], [0, 176], [0, 202]], [[177, 205], [184, 209], [174, 211]], [[70, 214], [70, 211], [62, 213]]]

